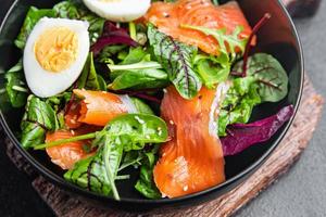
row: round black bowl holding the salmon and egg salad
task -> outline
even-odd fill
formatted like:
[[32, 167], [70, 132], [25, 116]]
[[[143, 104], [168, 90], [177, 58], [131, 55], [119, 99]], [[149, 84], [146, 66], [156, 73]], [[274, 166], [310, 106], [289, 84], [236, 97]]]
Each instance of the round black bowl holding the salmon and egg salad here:
[[[2, 5], [12, 4], [12, 7], [4, 17], [0, 29], [0, 73], [5, 72], [5, 69], [10, 68], [21, 58], [21, 53], [14, 47], [13, 41], [20, 31], [28, 8], [30, 5], [38, 8], [51, 8], [58, 1], [55, 0], [17, 0], [15, 2], [12, 2], [12, 0], [2, 0]], [[271, 53], [277, 58], [290, 77], [290, 91], [287, 98], [279, 103], [265, 103], [256, 107], [252, 119], [275, 114], [280, 107], [288, 104], [293, 104], [297, 111], [303, 87], [303, 56], [298, 34], [289, 14], [277, 0], [240, 0], [239, 3], [251, 25], [254, 25], [264, 13], [269, 12], [272, 14], [273, 18], [259, 33], [259, 44], [255, 50]], [[2, 89], [3, 86], [3, 78], [1, 78], [0, 89]], [[143, 212], [167, 206], [170, 208], [190, 206], [215, 199], [230, 191], [233, 188], [246, 180], [263, 162], [265, 162], [284, 138], [293, 119], [292, 118], [269, 141], [262, 143], [261, 145], [255, 145], [236, 156], [226, 157], [227, 180], [220, 186], [183, 197], [152, 201], [139, 196], [133, 188], [135, 180], [130, 179], [118, 184], [122, 200], [116, 202], [112, 199], [96, 195], [91, 192], [79, 189], [76, 186], [67, 183], [62, 178], [62, 170], [53, 165], [45, 154], [23, 150], [15, 136], [20, 131], [22, 113], [22, 110], [14, 110], [5, 105], [1, 105], [0, 120], [8, 137], [20, 150], [21, 154], [41, 175], [61, 188], [68, 190], [68, 192], [72, 192], [75, 195], [82, 195], [96, 204], [134, 212]]]

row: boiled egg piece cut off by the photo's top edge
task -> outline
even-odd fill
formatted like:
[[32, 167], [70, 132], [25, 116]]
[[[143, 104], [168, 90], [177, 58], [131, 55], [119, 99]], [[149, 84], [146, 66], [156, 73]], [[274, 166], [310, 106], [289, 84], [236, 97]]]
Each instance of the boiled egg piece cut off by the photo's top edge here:
[[99, 16], [113, 22], [130, 22], [146, 14], [151, 0], [83, 0]]

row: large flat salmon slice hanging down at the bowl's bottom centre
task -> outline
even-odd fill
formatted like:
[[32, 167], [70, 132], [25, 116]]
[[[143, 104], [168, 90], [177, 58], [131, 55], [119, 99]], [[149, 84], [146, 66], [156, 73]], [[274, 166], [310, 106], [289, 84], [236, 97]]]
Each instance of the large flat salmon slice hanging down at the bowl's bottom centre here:
[[163, 195], [183, 196], [225, 181], [222, 144], [211, 128], [217, 118], [216, 94], [202, 88], [189, 101], [174, 87], [167, 88], [161, 113], [172, 140], [162, 145], [154, 167], [154, 181]]

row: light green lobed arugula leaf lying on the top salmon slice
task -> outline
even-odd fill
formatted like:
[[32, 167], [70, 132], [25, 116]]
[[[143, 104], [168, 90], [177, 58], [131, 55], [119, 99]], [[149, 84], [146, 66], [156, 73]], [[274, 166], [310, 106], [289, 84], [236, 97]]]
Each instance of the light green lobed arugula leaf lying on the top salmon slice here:
[[228, 53], [230, 53], [231, 55], [230, 60], [236, 59], [237, 49], [240, 49], [242, 53], [246, 50], [246, 44], [248, 42], [248, 39], [239, 39], [239, 35], [243, 30], [243, 27], [241, 26], [237, 26], [231, 35], [227, 35], [225, 28], [216, 30], [216, 29], [206, 28], [202, 26], [181, 25], [181, 27], [199, 30], [205, 34], [206, 36], [213, 36], [218, 43], [218, 49], [220, 49], [218, 51], [225, 55], [228, 55]]

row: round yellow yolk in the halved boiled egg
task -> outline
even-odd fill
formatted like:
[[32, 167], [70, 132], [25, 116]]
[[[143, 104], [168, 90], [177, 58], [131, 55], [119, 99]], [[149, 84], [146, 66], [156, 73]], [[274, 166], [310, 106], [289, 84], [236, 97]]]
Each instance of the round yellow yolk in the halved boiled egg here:
[[36, 40], [34, 52], [43, 69], [52, 73], [67, 69], [77, 59], [77, 34], [67, 27], [48, 28]]

